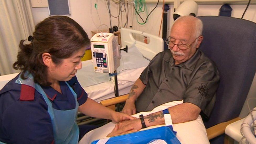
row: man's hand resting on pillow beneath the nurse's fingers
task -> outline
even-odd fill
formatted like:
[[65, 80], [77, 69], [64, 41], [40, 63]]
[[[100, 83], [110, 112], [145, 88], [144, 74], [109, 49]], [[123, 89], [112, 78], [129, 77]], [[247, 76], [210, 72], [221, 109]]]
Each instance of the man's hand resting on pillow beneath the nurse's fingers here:
[[116, 124], [115, 128], [107, 136], [112, 137], [112, 136], [124, 135], [132, 132], [136, 132], [136, 131], [137, 130], [133, 129], [132, 126], [126, 126], [126, 127], [120, 128], [119, 125]]

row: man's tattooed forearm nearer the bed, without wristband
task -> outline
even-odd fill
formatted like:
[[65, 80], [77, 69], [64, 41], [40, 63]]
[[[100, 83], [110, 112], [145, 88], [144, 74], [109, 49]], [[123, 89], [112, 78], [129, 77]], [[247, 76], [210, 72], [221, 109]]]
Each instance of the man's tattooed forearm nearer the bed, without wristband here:
[[143, 84], [142, 81], [138, 78], [132, 86], [127, 100], [135, 102], [135, 100], [139, 97], [145, 87], [146, 85]]

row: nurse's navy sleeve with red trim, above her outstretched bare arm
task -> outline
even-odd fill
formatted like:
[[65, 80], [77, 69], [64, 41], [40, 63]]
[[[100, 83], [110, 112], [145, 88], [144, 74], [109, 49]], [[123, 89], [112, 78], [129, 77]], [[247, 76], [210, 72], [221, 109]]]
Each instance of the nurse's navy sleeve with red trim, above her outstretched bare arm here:
[[77, 94], [77, 102], [80, 105], [84, 104], [87, 100], [87, 93], [81, 87], [80, 83], [77, 80], [77, 77], [74, 76], [70, 81], [67, 82]]

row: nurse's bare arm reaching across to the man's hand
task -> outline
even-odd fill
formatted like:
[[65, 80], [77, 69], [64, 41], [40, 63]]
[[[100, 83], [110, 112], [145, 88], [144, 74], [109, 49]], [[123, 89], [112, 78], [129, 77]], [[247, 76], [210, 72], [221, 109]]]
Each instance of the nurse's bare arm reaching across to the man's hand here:
[[78, 111], [94, 117], [94, 118], [101, 118], [101, 119], [109, 119], [114, 122], [119, 122], [122, 120], [132, 120], [134, 119], [133, 117], [123, 114], [123, 113], [118, 113], [116, 111], [113, 111], [97, 102], [94, 100], [87, 98], [86, 102], [78, 107]]

